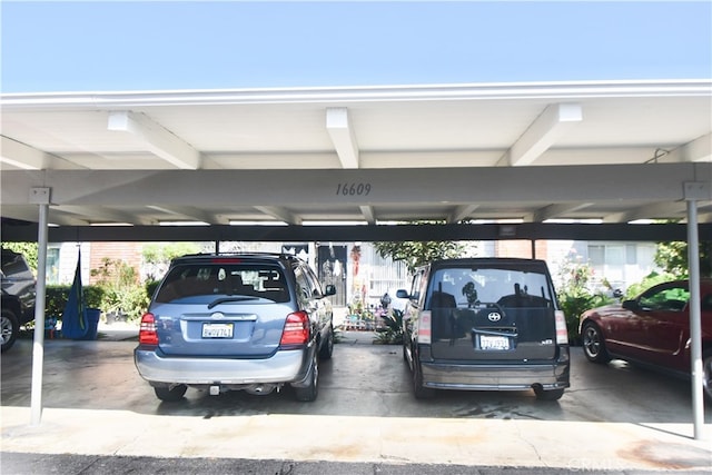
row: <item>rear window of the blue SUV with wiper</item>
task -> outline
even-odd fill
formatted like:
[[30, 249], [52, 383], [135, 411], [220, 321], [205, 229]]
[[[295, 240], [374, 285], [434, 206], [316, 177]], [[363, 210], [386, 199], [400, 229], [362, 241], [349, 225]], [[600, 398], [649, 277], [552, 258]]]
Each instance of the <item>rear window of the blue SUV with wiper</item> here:
[[207, 300], [216, 296], [245, 296], [286, 303], [289, 301], [285, 275], [276, 266], [191, 263], [168, 271], [156, 301], [167, 304], [191, 298], [200, 303], [199, 297]]

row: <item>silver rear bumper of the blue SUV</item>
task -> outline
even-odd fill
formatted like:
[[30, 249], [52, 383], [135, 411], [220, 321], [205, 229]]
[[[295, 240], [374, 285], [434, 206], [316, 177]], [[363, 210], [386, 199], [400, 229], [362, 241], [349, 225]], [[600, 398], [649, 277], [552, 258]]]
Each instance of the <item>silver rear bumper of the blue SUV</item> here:
[[234, 359], [161, 356], [154, 349], [138, 347], [134, 362], [139, 375], [149, 383], [201, 385], [250, 385], [293, 383], [307, 376], [314, 349], [280, 350], [269, 358]]

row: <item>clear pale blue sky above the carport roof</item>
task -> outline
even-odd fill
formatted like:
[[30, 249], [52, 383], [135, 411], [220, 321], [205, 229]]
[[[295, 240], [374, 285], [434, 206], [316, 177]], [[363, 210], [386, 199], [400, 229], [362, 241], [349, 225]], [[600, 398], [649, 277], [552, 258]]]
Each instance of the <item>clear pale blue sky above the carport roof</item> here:
[[712, 1], [1, 0], [0, 91], [712, 78]]

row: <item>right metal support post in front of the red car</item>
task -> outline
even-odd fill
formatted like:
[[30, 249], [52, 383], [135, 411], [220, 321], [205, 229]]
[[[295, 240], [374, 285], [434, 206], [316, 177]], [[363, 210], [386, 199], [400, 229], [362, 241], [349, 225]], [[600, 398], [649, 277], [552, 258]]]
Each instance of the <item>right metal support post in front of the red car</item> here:
[[698, 243], [696, 201], [688, 200], [688, 263], [690, 266], [690, 359], [692, 372], [692, 415], [694, 438], [701, 439], [704, 429], [704, 393], [702, 378], [702, 314], [700, 307], [700, 245]]

